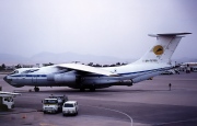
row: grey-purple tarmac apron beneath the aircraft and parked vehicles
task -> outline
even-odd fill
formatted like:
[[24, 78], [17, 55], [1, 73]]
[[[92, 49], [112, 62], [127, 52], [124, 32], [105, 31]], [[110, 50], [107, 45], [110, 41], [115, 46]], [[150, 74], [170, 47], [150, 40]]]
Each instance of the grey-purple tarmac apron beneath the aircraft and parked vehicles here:
[[[15, 107], [0, 112], [1, 126], [195, 126], [197, 125], [197, 72], [158, 76], [132, 87], [117, 85], [95, 92], [66, 87], [13, 88], [3, 81], [3, 91], [19, 92]], [[169, 83], [172, 84], [171, 90]], [[79, 103], [78, 116], [44, 114], [42, 100], [65, 94]]]

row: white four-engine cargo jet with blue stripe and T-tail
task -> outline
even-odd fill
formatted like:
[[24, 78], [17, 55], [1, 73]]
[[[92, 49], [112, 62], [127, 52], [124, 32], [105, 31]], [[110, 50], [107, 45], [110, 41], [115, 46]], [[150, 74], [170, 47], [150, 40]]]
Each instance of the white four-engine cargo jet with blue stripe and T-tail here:
[[91, 67], [81, 64], [60, 64], [42, 68], [20, 68], [3, 78], [9, 84], [21, 88], [69, 87], [84, 91], [112, 85], [132, 85], [172, 69], [171, 57], [184, 35], [192, 33], [149, 34], [155, 44], [139, 60], [118, 67]]

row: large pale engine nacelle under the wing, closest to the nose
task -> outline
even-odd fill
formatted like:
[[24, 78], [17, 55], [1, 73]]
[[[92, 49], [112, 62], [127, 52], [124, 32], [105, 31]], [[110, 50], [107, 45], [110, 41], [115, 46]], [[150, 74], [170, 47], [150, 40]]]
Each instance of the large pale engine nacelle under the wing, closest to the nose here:
[[54, 76], [56, 83], [76, 83], [76, 75], [59, 73]]

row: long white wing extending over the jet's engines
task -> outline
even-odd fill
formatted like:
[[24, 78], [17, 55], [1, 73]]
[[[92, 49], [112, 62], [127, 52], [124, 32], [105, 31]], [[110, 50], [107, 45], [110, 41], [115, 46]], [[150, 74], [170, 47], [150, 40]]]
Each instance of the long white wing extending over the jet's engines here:
[[85, 71], [85, 72], [90, 72], [90, 73], [109, 76], [109, 77], [117, 77], [118, 76], [116, 73], [113, 73], [113, 72], [107, 71], [107, 70], [103, 70], [101, 68], [95, 68], [95, 67], [80, 65], [80, 64], [62, 64], [62, 65], [57, 65], [57, 67], [66, 68], [66, 69], [72, 69], [72, 70], [77, 70], [77, 71]]

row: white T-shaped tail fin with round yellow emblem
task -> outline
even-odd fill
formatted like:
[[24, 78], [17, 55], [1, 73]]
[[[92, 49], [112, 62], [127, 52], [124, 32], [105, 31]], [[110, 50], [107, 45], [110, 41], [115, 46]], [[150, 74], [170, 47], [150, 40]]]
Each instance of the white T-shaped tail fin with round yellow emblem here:
[[149, 34], [157, 37], [157, 43], [153, 47], [142, 56], [137, 62], [171, 62], [171, 57], [176, 49], [179, 41], [184, 36], [192, 33], [169, 33], [169, 34]]

